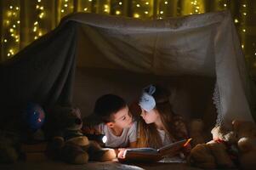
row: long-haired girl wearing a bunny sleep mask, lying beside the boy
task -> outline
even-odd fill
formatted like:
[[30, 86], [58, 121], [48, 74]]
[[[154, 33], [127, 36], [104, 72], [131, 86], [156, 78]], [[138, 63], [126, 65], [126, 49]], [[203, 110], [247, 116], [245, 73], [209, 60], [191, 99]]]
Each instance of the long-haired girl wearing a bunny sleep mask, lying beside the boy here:
[[[138, 147], [161, 148], [180, 139], [188, 139], [182, 117], [174, 114], [167, 89], [156, 85], [144, 88], [139, 100], [141, 109]], [[189, 151], [187, 149], [186, 151]]]

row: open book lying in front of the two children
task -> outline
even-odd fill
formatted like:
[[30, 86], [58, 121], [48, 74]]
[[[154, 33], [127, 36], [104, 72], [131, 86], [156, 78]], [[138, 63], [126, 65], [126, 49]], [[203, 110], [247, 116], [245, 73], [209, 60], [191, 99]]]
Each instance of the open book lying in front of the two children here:
[[174, 156], [179, 153], [191, 139], [183, 139], [172, 144], [163, 146], [156, 150], [153, 148], [129, 148], [124, 150], [122, 156], [118, 158], [119, 161], [160, 161], [163, 156]]

